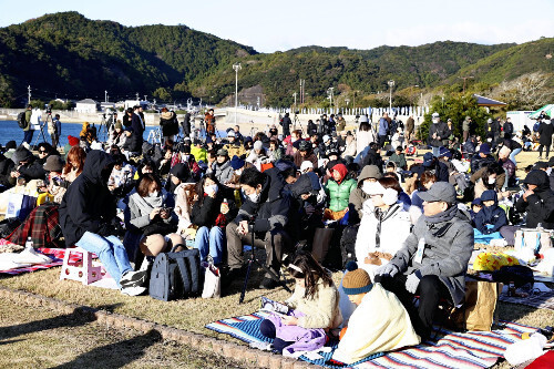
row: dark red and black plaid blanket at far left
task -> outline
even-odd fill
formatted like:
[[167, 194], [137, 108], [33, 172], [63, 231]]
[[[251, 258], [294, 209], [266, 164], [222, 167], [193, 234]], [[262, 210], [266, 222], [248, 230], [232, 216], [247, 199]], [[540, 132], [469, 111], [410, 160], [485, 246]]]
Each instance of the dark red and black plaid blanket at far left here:
[[31, 237], [34, 248], [63, 246], [60, 243], [62, 228], [58, 217], [58, 205], [44, 204], [34, 208], [7, 239], [24, 246], [28, 237]]

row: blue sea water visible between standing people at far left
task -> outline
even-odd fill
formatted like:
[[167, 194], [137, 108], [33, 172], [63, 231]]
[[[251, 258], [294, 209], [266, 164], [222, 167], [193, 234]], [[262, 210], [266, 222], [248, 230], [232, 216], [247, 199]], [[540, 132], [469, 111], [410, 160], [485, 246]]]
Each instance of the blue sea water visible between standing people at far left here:
[[[62, 134], [60, 136], [60, 145], [63, 147], [68, 143], [68, 136], [79, 137], [79, 133], [82, 129], [81, 123], [63, 123], [62, 122]], [[96, 129], [100, 126], [96, 124]], [[146, 126], [146, 131], [144, 131], [144, 140], [148, 139], [148, 134], [152, 130], [157, 129], [157, 126]], [[47, 142], [52, 143], [50, 135], [48, 134], [47, 129], [43, 129], [44, 135], [47, 137]], [[40, 139], [37, 141], [37, 139]], [[100, 139], [103, 139], [102, 135]], [[8, 141], [14, 140], [19, 145], [23, 141], [23, 130], [21, 130], [16, 121], [0, 121], [0, 144], [3, 146]], [[34, 131], [33, 140], [31, 143], [34, 145], [43, 142], [40, 131]]]

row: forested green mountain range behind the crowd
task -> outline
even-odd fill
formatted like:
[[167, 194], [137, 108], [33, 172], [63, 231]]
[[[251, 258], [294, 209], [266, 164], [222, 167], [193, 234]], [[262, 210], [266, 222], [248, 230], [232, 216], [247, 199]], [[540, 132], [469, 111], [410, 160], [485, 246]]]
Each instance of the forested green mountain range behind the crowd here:
[[194, 96], [225, 103], [235, 91], [232, 65], [237, 62], [243, 66], [242, 101], [261, 98], [264, 105], [290, 105], [302, 79], [306, 100], [321, 104], [330, 86], [342, 98], [355, 91], [360, 96], [388, 91], [389, 80], [398, 91], [459, 83], [465, 73], [497, 83], [527, 70], [552, 71], [545, 55], [553, 40], [520, 45], [445, 41], [371, 50], [310, 45], [258, 53], [186, 25], [124, 27], [62, 12], [0, 28], [0, 105], [21, 104], [28, 85], [43, 101], [55, 95], [103, 99], [107, 91], [111, 100], [138, 92], [150, 98], [155, 93], [158, 100]]

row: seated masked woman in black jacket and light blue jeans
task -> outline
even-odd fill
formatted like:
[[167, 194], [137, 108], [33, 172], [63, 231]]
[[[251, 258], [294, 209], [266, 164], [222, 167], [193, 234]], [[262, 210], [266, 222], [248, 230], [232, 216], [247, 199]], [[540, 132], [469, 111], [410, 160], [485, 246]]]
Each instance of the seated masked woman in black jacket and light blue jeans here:
[[[211, 255], [214, 264], [223, 262], [225, 227], [235, 216], [229, 214], [229, 201], [225, 188], [217, 182], [214, 173], [205, 175], [196, 184], [198, 199], [194, 203], [191, 221], [199, 228], [196, 230], [194, 248], [201, 250], [201, 259]], [[232, 193], [230, 193], [232, 195]]]

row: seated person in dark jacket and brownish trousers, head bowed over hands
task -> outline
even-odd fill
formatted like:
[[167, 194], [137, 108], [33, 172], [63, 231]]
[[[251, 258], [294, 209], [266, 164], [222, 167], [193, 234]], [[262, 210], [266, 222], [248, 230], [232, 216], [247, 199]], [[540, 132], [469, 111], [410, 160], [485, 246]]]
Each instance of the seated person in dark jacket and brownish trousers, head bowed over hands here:
[[[256, 236], [254, 246], [266, 249], [266, 266], [275, 275], [279, 275], [283, 252], [291, 246], [287, 228], [290, 229], [296, 225], [288, 224], [290, 196], [283, 191], [283, 181], [267, 173], [275, 171], [277, 170], [271, 168], [260, 173], [255, 168], [247, 168], [240, 175], [240, 187], [247, 198], [240, 206], [235, 221], [226, 228], [226, 264], [229, 269], [224, 278], [226, 283], [232, 283], [243, 274], [243, 245], [252, 244], [253, 232]], [[273, 289], [275, 287], [277, 287], [277, 281], [266, 274], [260, 288]]]

